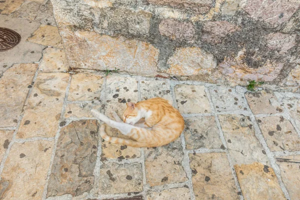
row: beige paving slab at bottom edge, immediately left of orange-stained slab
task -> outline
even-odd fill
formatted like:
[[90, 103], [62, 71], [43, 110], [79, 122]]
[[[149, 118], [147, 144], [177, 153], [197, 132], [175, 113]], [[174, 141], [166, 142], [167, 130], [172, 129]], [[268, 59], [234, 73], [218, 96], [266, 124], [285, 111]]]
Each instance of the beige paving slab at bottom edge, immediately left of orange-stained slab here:
[[226, 153], [189, 154], [195, 199], [239, 199]]

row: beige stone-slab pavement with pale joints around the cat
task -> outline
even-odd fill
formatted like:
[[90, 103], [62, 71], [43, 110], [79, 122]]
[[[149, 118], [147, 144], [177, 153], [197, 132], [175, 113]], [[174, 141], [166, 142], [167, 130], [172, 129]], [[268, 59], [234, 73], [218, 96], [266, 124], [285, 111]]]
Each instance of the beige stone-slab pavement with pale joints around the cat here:
[[[68, 69], [50, 7], [0, 2], [1, 26], [22, 36], [0, 52], [1, 199], [300, 198], [299, 93]], [[101, 139], [91, 108], [120, 114], [154, 96], [183, 115], [180, 138], [156, 148]]]

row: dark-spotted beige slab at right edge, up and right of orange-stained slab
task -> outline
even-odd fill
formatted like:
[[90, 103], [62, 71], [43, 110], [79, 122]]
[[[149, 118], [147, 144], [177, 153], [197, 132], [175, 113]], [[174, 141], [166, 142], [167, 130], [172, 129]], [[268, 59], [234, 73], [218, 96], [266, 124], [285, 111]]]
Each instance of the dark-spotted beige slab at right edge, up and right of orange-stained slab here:
[[289, 120], [282, 116], [256, 118], [271, 151], [300, 150], [300, 139]]

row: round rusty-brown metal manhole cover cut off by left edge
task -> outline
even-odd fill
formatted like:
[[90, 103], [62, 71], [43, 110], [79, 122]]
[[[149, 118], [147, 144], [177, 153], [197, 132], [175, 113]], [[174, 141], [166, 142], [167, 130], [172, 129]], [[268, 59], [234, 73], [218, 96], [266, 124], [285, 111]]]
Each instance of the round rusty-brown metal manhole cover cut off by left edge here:
[[21, 36], [8, 28], [0, 27], [0, 51], [13, 48], [21, 40]]

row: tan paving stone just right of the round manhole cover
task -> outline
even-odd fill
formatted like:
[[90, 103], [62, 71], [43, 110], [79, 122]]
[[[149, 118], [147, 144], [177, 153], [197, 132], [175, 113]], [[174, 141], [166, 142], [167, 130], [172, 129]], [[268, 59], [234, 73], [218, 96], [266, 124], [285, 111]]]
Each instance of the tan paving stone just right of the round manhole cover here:
[[39, 28], [33, 32], [33, 35], [27, 38], [27, 41], [46, 46], [63, 48], [58, 29], [52, 25], [41, 24]]

